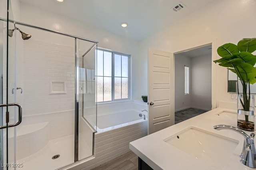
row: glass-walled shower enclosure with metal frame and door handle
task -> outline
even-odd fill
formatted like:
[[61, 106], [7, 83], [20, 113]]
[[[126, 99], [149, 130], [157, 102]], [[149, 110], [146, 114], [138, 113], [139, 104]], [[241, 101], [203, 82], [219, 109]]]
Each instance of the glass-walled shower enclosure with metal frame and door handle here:
[[16, 22], [11, 2], [0, 3], [0, 170], [93, 156], [98, 42]]

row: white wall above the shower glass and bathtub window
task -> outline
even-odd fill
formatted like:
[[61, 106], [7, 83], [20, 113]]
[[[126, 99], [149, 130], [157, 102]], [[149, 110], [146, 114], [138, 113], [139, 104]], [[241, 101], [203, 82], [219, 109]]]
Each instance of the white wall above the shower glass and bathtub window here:
[[[33, 6], [29, 6], [28, 4], [20, 4], [20, 14], [21, 22], [95, 40], [99, 42], [98, 47], [130, 54], [132, 56], [132, 77], [137, 77], [137, 73], [140, 71], [140, 65], [137, 54], [138, 42], [135, 40], [118, 36], [100, 28], [88, 26], [82, 22], [78, 22], [52, 12], [44, 11]], [[40, 39], [44, 41], [44, 37], [41, 37]], [[132, 81], [132, 94], [138, 93], [138, 84], [138, 82]]]

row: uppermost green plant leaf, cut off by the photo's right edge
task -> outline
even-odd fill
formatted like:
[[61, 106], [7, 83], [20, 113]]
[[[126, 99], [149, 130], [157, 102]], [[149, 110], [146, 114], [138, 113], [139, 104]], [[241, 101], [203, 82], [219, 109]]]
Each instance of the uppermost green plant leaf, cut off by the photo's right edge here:
[[237, 44], [240, 51], [254, 52], [256, 50], [256, 38], [243, 38]]

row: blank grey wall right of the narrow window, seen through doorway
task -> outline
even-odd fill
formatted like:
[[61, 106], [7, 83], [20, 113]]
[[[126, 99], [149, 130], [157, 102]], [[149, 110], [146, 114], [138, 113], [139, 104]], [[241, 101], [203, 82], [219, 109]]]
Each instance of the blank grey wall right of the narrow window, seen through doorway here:
[[212, 56], [191, 58], [191, 106], [212, 109]]

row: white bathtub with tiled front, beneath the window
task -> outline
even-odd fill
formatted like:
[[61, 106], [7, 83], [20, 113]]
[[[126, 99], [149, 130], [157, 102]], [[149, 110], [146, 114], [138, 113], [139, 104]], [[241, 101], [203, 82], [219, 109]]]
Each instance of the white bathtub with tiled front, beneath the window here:
[[148, 120], [139, 117], [139, 113], [139, 110], [129, 109], [98, 114], [97, 127], [94, 125], [97, 129], [94, 136], [94, 159], [88, 162], [87, 169], [129, 152], [130, 142], [148, 134]]

